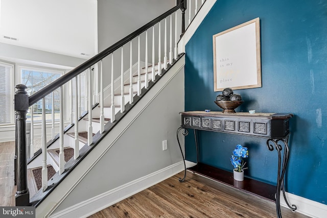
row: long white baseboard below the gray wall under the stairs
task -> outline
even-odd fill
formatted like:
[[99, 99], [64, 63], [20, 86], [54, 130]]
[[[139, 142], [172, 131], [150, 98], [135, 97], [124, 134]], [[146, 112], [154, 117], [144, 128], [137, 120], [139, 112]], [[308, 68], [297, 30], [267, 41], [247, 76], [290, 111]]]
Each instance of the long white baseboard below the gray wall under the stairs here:
[[[186, 161], [186, 167], [191, 167], [195, 163]], [[160, 169], [157, 172], [151, 173], [147, 176], [141, 177], [122, 186], [116, 187], [110, 191], [102, 193], [87, 201], [76, 204], [65, 210], [50, 215], [50, 217], [71, 218], [71, 217], [87, 217], [94, 214], [106, 207], [109, 207], [117, 202], [120, 202], [135, 193], [138, 193], [144, 189], [151, 187], [165, 179], [168, 179], [179, 172], [184, 170], [184, 163], [180, 161], [178, 163], [167, 166]]]

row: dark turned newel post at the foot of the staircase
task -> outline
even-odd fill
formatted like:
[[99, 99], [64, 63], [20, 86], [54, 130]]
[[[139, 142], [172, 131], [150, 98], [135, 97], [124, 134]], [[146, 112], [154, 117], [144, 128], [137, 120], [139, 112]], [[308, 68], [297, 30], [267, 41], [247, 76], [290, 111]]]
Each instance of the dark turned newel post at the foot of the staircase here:
[[27, 159], [26, 159], [26, 113], [29, 108], [27, 86], [16, 85], [15, 114], [16, 114], [16, 206], [29, 206], [30, 193], [27, 186]]

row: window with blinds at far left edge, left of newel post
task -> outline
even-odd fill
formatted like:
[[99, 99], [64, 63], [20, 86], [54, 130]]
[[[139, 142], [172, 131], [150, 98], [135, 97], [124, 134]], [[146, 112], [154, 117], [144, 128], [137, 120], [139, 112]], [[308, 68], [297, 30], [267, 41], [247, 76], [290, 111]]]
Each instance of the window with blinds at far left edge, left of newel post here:
[[0, 62], [0, 125], [12, 124], [14, 120], [14, 65]]

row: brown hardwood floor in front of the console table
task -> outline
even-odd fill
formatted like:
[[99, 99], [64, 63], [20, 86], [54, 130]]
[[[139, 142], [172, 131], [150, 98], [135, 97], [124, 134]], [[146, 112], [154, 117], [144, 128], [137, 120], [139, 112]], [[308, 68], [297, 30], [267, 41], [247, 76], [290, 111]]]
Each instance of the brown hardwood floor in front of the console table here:
[[[162, 181], [91, 216], [99, 217], [276, 217], [275, 203], [188, 172]], [[283, 218], [308, 217], [282, 207]]]

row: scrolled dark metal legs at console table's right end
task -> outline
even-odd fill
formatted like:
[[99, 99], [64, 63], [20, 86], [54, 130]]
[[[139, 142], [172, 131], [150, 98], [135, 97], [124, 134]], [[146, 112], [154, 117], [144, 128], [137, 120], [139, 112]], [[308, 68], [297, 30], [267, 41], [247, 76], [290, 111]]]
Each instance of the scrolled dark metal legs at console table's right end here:
[[[285, 149], [284, 149], [284, 159], [283, 159], [283, 164], [282, 164], [282, 150], [283, 147], [281, 144], [278, 144], [278, 142], [284, 143]], [[284, 177], [285, 177], [285, 172], [286, 172], [286, 167], [288, 163], [288, 156], [289, 156], [289, 148], [288, 148], [288, 143], [284, 139], [268, 139], [267, 140], [267, 147], [269, 151], [273, 151], [274, 147], [277, 151], [278, 154], [278, 171], [277, 171], [277, 187], [276, 187], [276, 212], [277, 212], [277, 217], [282, 218], [282, 213], [281, 213], [281, 190], [283, 189], [283, 197], [289, 206], [289, 208], [292, 211], [296, 210], [296, 206], [292, 205], [292, 207], [289, 205], [286, 196], [285, 196], [285, 188], [284, 188]], [[281, 171], [281, 166], [282, 166], [282, 171]]]

